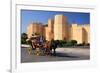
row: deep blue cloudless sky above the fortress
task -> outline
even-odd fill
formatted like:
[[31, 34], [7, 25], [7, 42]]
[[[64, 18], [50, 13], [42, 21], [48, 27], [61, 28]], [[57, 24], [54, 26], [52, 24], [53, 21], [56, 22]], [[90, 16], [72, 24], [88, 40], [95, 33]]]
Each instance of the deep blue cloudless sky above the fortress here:
[[21, 33], [27, 31], [27, 26], [31, 22], [47, 24], [48, 19], [54, 19], [57, 14], [64, 14], [68, 18], [69, 24], [77, 23], [90, 24], [90, 13], [83, 12], [60, 12], [42, 10], [21, 10]]

